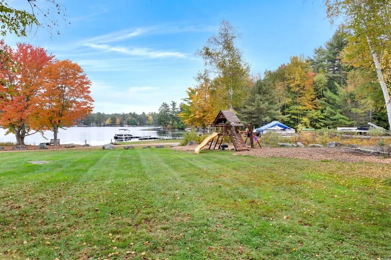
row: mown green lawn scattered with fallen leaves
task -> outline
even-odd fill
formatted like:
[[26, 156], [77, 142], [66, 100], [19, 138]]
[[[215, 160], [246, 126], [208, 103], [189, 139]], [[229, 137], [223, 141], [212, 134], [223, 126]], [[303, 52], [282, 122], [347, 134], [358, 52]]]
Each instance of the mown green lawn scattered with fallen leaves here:
[[0, 259], [390, 259], [389, 169], [167, 148], [0, 153]]

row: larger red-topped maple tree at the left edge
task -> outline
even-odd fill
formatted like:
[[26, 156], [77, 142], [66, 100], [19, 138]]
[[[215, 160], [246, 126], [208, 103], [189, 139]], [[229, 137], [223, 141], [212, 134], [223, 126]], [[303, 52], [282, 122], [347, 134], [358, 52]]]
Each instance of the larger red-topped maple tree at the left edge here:
[[41, 110], [38, 100], [46, 78], [43, 69], [54, 56], [24, 43], [13, 50], [2, 41], [0, 48], [0, 125], [15, 134], [17, 144], [24, 144], [27, 135], [44, 129], [37, 116]]

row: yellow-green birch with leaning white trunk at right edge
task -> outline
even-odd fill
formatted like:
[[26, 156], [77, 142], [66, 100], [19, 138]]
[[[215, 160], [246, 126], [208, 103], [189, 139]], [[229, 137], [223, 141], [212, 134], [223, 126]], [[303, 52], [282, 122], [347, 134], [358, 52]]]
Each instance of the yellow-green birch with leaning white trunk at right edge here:
[[342, 17], [348, 30], [348, 46], [343, 61], [355, 67], [375, 69], [383, 92], [391, 128], [391, 100], [387, 83], [391, 64], [391, 2], [389, 0], [326, 0], [331, 23]]

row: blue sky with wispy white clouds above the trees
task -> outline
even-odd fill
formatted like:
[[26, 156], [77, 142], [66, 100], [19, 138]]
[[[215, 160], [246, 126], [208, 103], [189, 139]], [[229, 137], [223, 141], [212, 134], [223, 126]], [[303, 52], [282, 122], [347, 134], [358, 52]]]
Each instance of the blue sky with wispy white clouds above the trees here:
[[[25, 0], [10, 0], [23, 7]], [[228, 20], [252, 73], [276, 69], [289, 57], [312, 51], [335, 27], [322, 1], [60, 0], [67, 21], [50, 38], [38, 30], [6, 43], [43, 46], [58, 59], [80, 64], [92, 82], [94, 112], [151, 112], [162, 102], [181, 102], [203, 67], [194, 52]]]

